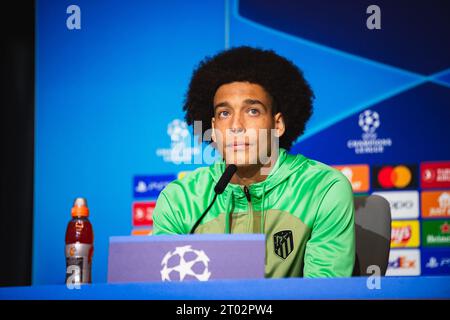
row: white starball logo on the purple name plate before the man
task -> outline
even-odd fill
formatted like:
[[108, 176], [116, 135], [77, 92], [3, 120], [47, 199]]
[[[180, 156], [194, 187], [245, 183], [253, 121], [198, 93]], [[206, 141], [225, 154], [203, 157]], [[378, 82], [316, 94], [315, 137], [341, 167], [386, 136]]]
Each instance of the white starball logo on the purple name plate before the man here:
[[161, 261], [162, 281], [198, 280], [208, 281], [209, 257], [203, 250], [192, 249], [190, 245], [176, 247], [165, 254]]

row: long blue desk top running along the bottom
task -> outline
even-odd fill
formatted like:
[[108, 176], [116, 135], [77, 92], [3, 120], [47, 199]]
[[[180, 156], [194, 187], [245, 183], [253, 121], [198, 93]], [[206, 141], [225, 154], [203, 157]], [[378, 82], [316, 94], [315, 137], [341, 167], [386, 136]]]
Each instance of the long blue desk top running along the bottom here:
[[276, 300], [276, 299], [450, 299], [450, 276], [383, 277], [369, 289], [366, 277], [335, 279], [215, 280], [0, 288], [0, 299]]

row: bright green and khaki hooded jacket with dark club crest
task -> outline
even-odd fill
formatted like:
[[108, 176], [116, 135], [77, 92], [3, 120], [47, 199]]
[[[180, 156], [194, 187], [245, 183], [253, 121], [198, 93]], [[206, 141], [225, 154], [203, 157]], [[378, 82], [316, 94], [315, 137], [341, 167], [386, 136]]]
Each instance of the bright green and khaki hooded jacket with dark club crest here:
[[[214, 197], [224, 161], [171, 182], [153, 211], [153, 234], [187, 234]], [[195, 233], [264, 233], [266, 277], [350, 277], [353, 192], [338, 170], [280, 148], [267, 178], [228, 184]]]

